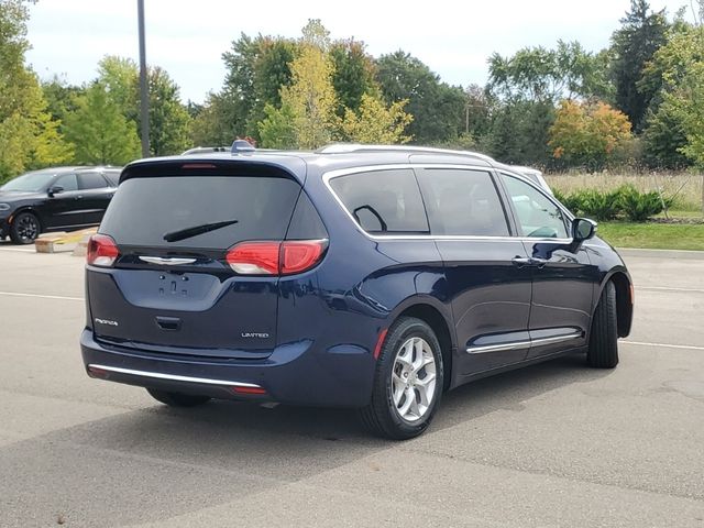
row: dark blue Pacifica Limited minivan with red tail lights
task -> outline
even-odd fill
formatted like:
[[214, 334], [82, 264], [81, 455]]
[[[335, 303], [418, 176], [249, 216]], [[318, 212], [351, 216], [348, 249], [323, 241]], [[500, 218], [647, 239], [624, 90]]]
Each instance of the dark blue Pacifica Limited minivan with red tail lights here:
[[173, 406], [210, 398], [430, 424], [444, 391], [565, 353], [618, 362], [618, 254], [490, 158], [333, 145], [127, 166], [89, 244], [92, 377]]

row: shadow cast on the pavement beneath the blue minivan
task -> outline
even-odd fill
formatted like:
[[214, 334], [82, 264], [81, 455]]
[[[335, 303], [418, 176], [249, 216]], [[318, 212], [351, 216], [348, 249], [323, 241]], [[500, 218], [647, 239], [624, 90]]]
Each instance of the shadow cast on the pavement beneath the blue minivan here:
[[[429, 433], [607, 374], [564, 358], [486, 378], [447, 394]], [[395, 446], [370, 437], [352, 410], [155, 404], [1, 448], [0, 525], [43, 526], [57, 516], [68, 526], [103, 527], [167, 519]], [[364, 471], [373, 469], [362, 463]]]

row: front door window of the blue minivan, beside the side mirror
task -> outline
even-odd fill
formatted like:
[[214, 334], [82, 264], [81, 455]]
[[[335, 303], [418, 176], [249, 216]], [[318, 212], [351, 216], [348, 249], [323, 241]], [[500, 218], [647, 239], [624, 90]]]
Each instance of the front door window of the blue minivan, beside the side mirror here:
[[566, 239], [564, 216], [548, 197], [518, 178], [502, 174], [522, 237]]

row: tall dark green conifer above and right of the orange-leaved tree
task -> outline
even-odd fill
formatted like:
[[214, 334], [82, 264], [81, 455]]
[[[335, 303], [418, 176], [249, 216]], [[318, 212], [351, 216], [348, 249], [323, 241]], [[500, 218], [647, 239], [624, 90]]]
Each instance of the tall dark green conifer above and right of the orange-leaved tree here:
[[642, 131], [646, 111], [657, 92], [656, 87], [639, 82], [648, 63], [666, 44], [669, 28], [664, 10], [652, 12], [647, 0], [631, 0], [622, 29], [612, 36], [616, 107], [628, 116], [636, 132]]

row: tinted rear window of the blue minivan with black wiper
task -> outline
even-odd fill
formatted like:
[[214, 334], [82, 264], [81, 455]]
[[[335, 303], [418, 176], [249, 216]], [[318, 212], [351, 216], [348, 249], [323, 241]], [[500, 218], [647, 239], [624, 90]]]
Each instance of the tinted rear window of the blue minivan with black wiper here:
[[[130, 178], [99, 232], [119, 245], [152, 248], [224, 250], [244, 240], [283, 240], [299, 194], [300, 186], [283, 177]], [[205, 226], [212, 229], [196, 229]]]

